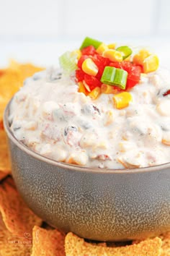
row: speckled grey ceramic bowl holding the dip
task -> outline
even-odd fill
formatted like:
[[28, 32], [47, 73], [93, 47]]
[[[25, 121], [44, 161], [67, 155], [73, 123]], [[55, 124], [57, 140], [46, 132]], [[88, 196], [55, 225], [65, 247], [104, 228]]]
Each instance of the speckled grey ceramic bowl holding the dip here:
[[170, 163], [131, 170], [58, 163], [17, 141], [8, 115], [9, 105], [4, 127], [14, 181], [27, 205], [51, 226], [100, 241], [170, 230]]

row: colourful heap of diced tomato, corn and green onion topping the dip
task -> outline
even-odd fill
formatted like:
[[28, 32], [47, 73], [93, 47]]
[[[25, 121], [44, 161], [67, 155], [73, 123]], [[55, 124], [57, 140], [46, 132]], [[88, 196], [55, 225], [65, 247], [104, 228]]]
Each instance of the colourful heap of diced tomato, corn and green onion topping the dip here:
[[[158, 56], [146, 49], [134, 54], [129, 46], [115, 46], [115, 43], [107, 45], [86, 37], [79, 49], [67, 51], [60, 57], [61, 67], [68, 74], [75, 72], [79, 93], [95, 100], [101, 93], [130, 91], [139, 84], [142, 73], [158, 69]], [[115, 98], [114, 105], [120, 108], [115, 104]], [[125, 100], [121, 108], [128, 106], [128, 99], [131, 101], [132, 96], [121, 96], [121, 102]]]

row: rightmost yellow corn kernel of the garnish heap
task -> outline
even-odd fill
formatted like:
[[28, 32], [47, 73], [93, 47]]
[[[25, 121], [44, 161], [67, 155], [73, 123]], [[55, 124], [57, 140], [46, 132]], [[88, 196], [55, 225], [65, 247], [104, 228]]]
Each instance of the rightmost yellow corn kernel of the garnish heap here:
[[144, 73], [153, 72], [158, 69], [158, 56], [151, 54], [143, 61]]

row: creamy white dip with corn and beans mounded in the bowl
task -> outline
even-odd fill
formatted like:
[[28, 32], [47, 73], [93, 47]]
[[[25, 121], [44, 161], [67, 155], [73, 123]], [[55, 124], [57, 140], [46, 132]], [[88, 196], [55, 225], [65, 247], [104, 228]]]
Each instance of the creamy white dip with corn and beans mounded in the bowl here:
[[112, 94], [78, 92], [58, 69], [35, 74], [14, 95], [9, 122], [17, 140], [56, 161], [99, 168], [135, 168], [170, 161], [170, 74], [145, 74], [117, 109]]

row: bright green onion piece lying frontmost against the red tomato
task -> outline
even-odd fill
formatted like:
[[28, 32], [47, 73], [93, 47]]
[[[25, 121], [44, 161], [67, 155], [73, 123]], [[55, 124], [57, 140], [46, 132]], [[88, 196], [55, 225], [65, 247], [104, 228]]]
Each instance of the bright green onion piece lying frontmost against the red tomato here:
[[105, 67], [102, 74], [101, 82], [106, 85], [115, 85], [122, 90], [126, 88], [128, 72], [115, 67]]

